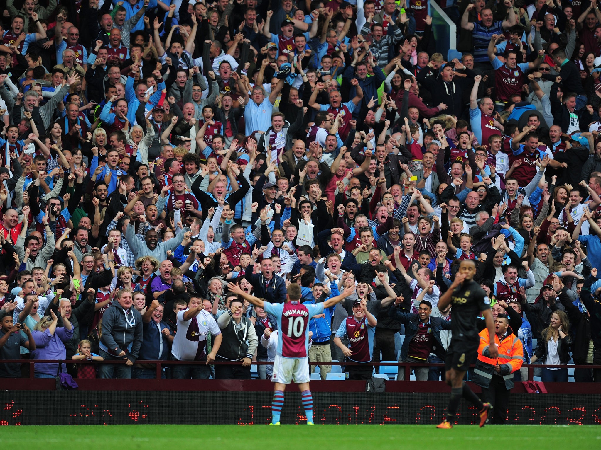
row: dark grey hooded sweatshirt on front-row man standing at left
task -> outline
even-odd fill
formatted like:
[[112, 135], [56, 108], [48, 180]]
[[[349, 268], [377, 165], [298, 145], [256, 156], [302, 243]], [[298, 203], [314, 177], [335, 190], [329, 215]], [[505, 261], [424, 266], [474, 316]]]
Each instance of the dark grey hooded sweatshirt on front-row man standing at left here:
[[[127, 359], [136, 362], [142, 345], [142, 332], [142, 316], [133, 305], [126, 311], [113, 301], [102, 316], [100, 348], [115, 357], [123, 350]], [[130, 344], [132, 349], [128, 352]]]

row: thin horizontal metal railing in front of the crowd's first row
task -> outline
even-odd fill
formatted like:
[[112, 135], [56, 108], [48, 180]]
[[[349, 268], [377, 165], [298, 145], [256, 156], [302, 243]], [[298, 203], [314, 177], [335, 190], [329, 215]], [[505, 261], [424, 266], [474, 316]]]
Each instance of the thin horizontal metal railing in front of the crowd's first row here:
[[[73, 359], [1, 359], [0, 364], [29, 364], [29, 378], [35, 377], [35, 364], [126, 364], [123, 360], [106, 360], [106, 361], [85, 361], [85, 360], [73, 360]], [[156, 368], [156, 377], [160, 379], [163, 366], [168, 367], [171, 365], [206, 365], [204, 361], [177, 361], [177, 360], [165, 360], [165, 361], [136, 361], [132, 367], [136, 365], [154, 365]], [[213, 361], [212, 365], [242, 365], [242, 361]], [[273, 361], [252, 361], [252, 365], [272, 365]], [[397, 373], [401, 367], [404, 370], [404, 379], [409, 381], [412, 367], [445, 367], [444, 363], [433, 363], [433, 362], [340, 362], [340, 361], [321, 361], [321, 362], [309, 362], [310, 365], [365, 365], [370, 364], [375, 367], [380, 366], [397, 366]], [[469, 367], [475, 367], [475, 364], [471, 364]], [[522, 364], [522, 368], [528, 368], [528, 380], [532, 380], [534, 377], [535, 368], [574, 368], [574, 369], [601, 369], [601, 365], [580, 365], [580, 364], [558, 364], [558, 365], [543, 365], [543, 364]]]

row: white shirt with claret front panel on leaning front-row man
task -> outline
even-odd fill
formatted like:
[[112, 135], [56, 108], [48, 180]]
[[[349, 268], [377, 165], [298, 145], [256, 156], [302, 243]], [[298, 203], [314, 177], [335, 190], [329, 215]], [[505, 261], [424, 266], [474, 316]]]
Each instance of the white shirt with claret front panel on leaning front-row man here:
[[221, 329], [207, 311], [201, 310], [195, 317], [185, 321], [186, 311], [188, 309], [177, 313], [177, 334], [173, 339], [171, 354], [178, 361], [206, 361], [207, 334], [221, 334]]

